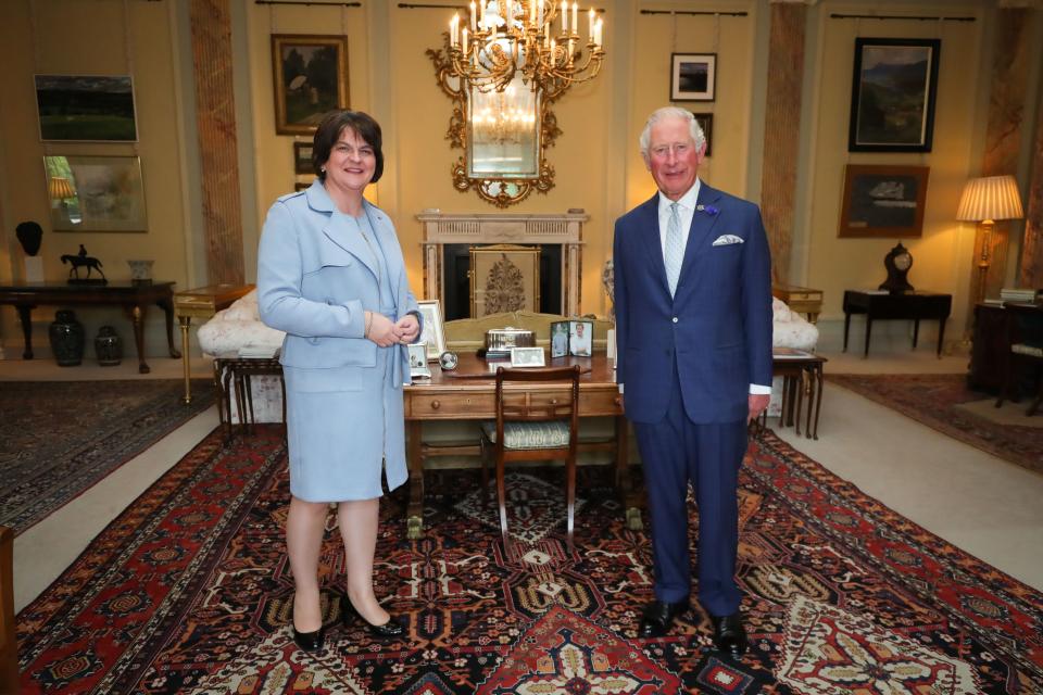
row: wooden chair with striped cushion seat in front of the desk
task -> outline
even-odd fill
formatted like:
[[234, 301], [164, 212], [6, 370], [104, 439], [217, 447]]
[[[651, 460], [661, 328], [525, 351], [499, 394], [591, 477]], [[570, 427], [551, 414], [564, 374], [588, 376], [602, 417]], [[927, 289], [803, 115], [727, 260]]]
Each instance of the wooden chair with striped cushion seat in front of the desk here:
[[[488, 489], [488, 460], [497, 464], [500, 533], [507, 549], [504, 465], [512, 460], [565, 459], [566, 531], [573, 548], [576, 507], [576, 448], [579, 439], [578, 365], [556, 368], [497, 369], [497, 419], [481, 426], [481, 477]], [[506, 384], [520, 382], [525, 388]], [[557, 388], [554, 388], [554, 387]]]

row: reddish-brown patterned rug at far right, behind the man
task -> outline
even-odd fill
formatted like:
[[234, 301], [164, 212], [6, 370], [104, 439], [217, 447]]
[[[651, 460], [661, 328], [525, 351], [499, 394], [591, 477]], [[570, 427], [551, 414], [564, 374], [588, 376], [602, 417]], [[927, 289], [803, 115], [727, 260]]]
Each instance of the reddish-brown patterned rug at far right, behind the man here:
[[1043, 429], [996, 422], [958, 407], [989, 397], [968, 389], [964, 375], [827, 374], [826, 379], [965, 444], [1043, 473]]

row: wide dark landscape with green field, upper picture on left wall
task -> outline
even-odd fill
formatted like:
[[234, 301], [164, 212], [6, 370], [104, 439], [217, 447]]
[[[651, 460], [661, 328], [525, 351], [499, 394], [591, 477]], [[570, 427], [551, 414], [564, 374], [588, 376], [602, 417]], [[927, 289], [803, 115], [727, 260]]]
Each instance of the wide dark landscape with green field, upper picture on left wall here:
[[129, 75], [36, 75], [41, 140], [134, 142]]

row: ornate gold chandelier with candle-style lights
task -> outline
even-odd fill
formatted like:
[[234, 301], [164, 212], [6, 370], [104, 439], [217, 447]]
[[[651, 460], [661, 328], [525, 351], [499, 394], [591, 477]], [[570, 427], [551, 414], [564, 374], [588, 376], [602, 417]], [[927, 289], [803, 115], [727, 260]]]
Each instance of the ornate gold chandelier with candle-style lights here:
[[565, 0], [472, 1], [463, 21], [449, 23], [448, 72], [478, 91], [503, 91], [516, 76], [554, 101], [574, 84], [598, 76], [605, 59], [604, 25], [587, 13], [586, 43], [579, 3]]

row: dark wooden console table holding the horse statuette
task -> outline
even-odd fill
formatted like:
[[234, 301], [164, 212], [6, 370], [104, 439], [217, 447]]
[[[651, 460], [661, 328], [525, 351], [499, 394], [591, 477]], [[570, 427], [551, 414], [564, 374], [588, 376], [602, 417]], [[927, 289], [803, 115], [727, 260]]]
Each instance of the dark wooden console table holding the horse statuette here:
[[181, 354], [174, 348], [174, 282], [151, 285], [9, 285], [0, 287], [0, 305], [14, 306], [22, 319], [25, 352], [22, 357], [33, 359], [33, 309], [49, 306], [122, 306], [134, 323], [134, 344], [138, 349], [138, 371], [149, 374], [144, 362], [144, 316], [149, 304], [166, 313], [166, 343], [171, 357]]

